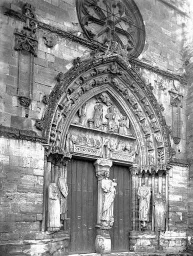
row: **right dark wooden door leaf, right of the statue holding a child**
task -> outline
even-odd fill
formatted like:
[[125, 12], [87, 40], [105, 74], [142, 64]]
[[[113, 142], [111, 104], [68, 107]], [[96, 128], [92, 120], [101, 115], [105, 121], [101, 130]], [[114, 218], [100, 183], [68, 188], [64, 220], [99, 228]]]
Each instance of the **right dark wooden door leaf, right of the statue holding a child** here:
[[110, 231], [111, 251], [128, 251], [128, 232], [131, 227], [131, 175], [128, 167], [112, 165], [110, 179], [117, 182], [114, 198], [114, 224]]

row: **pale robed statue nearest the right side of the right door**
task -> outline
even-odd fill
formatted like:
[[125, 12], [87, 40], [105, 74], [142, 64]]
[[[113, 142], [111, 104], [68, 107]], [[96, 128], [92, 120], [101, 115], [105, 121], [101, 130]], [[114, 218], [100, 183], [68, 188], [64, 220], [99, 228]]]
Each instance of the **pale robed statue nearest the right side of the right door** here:
[[149, 202], [150, 202], [150, 188], [143, 184], [137, 190], [137, 197], [139, 199], [139, 221], [145, 227], [146, 221], [149, 221]]

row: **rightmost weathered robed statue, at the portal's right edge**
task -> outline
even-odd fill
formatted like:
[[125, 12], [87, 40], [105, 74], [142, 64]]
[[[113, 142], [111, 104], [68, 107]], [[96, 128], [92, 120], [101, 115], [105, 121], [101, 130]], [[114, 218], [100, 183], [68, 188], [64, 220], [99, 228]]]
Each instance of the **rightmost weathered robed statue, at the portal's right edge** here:
[[161, 192], [158, 192], [157, 194], [155, 194], [153, 205], [154, 205], [155, 230], [164, 231], [165, 230], [166, 198]]

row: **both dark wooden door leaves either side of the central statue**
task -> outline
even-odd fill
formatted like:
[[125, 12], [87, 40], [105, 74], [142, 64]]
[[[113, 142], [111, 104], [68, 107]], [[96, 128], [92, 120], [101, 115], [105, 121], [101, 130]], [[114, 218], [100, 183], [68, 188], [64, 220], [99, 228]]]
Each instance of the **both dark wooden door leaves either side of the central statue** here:
[[[131, 184], [127, 167], [112, 165], [110, 179], [117, 182], [111, 250], [128, 251], [131, 222]], [[92, 161], [72, 159], [67, 166], [69, 254], [95, 252], [97, 224], [97, 178]]]

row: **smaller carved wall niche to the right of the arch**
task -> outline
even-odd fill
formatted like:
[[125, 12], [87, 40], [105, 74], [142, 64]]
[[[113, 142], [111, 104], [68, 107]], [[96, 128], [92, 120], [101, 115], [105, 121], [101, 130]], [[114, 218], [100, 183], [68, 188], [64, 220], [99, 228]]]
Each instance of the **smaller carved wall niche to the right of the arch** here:
[[180, 108], [182, 107], [182, 104], [181, 104], [182, 95], [173, 91], [169, 91], [169, 95], [170, 95], [170, 103], [172, 105], [171, 136], [172, 136], [173, 142], [175, 144], [178, 144], [180, 141], [180, 131], [181, 131]]

